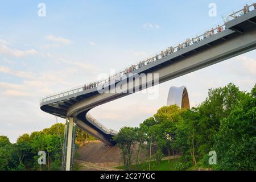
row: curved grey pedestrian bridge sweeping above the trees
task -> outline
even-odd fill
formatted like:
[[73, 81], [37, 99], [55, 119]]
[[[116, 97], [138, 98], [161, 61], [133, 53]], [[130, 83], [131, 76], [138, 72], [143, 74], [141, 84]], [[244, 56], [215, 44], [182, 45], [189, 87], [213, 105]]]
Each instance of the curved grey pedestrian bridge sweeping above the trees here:
[[[175, 47], [174, 51], [171, 53], [162, 53], [156, 60], [148, 61], [144, 63], [143, 66], [137, 65], [137, 67], [129, 73], [144, 73], [145, 75], [148, 75], [148, 73], [158, 73], [159, 80], [157, 82], [154, 81], [152, 85], [150, 85], [154, 86], [198, 69], [208, 67], [209, 65], [219, 63], [220, 61], [230, 59], [231, 57], [241, 55], [242, 53], [252, 51], [256, 47], [255, 16], [256, 10], [251, 10], [249, 13], [243, 14], [237, 18], [230, 15], [231, 20], [222, 26], [224, 27], [222, 31], [219, 32], [217, 29], [216, 32], [216, 30], [214, 30], [214, 34], [207, 36], [207, 38], [204, 38], [205, 35], [203, 34], [199, 36], [199, 39], [196, 39], [196, 42], [186, 45], [186, 47], [182, 47], [181, 49]], [[127, 75], [127, 73], [125, 74]], [[217, 70], [216, 75], [218, 75]], [[112, 86], [117, 85], [118, 82], [120, 82], [120, 80], [114, 78], [105, 88], [112, 88]], [[137, 92], [144, 88], [142, 84], [134, 82], [132, 89]], [[100, 94], [97, 86], [86, 89], [84, 86], [81, 86], [67, 90], [66, 92], [44, 97], [40, 102], [40, 109], [49, 114], [56, 115], [57, 117], [72, 118], [72, 121], [82, 130], [102, 142], [113, 145], [115, 143], [112, 141], [112, 137], [117, 133], [103, 126], [97, 119], [93, 118], [88, 111], [93, 109], [93, 107], [125, 97], [128, 94], [131, 93]]]

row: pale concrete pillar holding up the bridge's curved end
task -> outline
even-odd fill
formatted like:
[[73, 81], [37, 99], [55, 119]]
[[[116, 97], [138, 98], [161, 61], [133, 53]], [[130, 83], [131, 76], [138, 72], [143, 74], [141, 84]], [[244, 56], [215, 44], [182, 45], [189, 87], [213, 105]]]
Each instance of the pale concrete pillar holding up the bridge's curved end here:
[[68, 139], [67, 139], [67, 158], [66, 158], [66, 171], [70, 171], [71, 157], [72, 157], [72, 146], [73, 146], [73, 126], [74, 119], [68, 118]]

